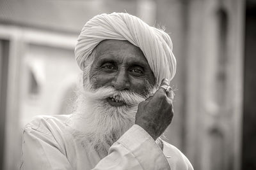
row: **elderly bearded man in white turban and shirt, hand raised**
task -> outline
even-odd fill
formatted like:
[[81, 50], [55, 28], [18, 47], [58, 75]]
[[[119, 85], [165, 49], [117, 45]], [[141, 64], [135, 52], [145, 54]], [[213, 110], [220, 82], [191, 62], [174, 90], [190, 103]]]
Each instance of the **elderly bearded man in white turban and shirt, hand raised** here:
[[159, 138], [173, 117], [168, 34], [128, 13], [97, 15], [75, 54], [83, 70], [76, 109], [26, 125], [21, 169], [193, 169]]

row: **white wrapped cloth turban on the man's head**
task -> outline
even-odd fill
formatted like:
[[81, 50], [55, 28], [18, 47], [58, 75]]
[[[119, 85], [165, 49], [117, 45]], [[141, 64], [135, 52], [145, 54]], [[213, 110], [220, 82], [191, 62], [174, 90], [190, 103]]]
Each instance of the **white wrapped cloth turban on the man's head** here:
[[77, 64], [82, 70], [90, 53], [104, 39], [127, 40], [140, 47], [158, 85], [163, 78], [170, 81], [174, 77], [176, 60], [170, 36], [128, 13], [103, 13], [84, 25], [75, 48]]

